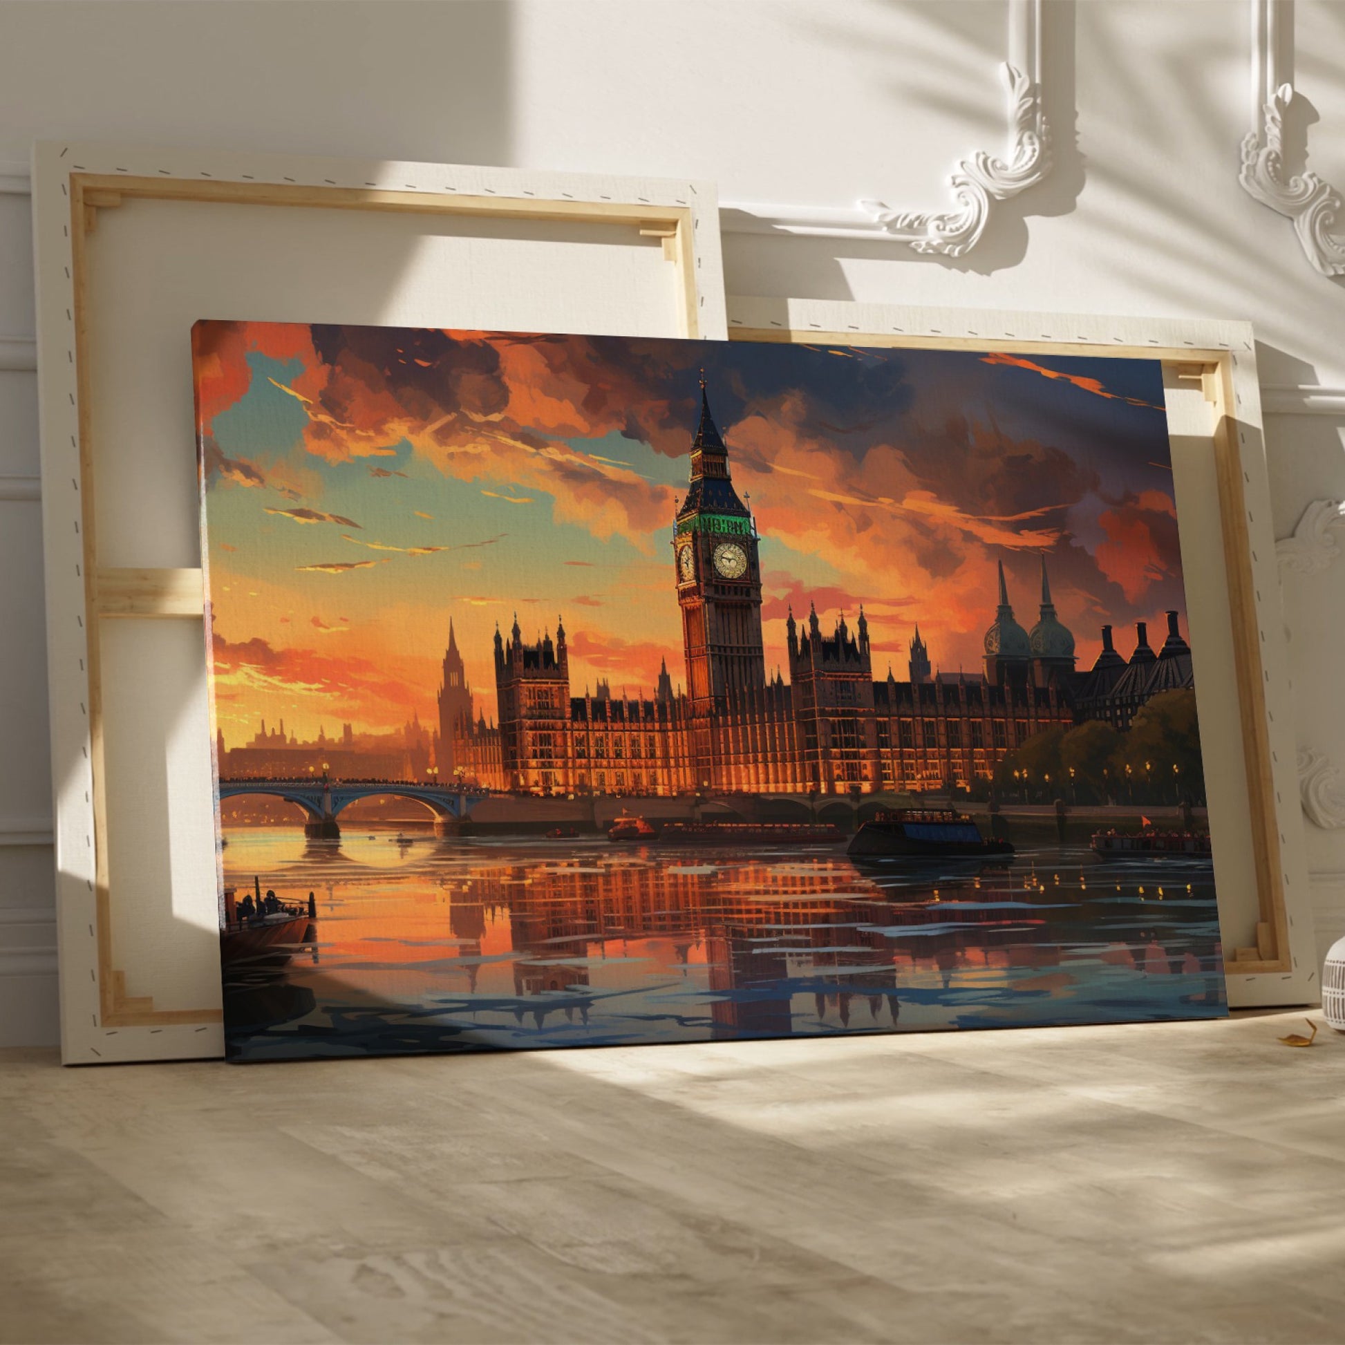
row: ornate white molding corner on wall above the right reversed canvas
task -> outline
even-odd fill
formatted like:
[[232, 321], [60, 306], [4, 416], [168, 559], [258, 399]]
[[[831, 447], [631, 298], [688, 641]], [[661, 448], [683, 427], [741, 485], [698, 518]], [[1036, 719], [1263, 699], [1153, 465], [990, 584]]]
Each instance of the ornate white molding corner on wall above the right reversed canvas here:
[[870, 238], [917, 253], [962, 257], [981, 241], [994, 207], [1050, 172], [1050, 128], [1041, 101], [1042, 0], [1009, 0], [1009, 59], [999, 67], [1009, 98], [1005, 156], [978, 151], [948, 178], [952, 210], [890, 210], [881, 200], [854, 206], [765, 206], [724, 202], [728, 233], [784, 233], [820, 238]]

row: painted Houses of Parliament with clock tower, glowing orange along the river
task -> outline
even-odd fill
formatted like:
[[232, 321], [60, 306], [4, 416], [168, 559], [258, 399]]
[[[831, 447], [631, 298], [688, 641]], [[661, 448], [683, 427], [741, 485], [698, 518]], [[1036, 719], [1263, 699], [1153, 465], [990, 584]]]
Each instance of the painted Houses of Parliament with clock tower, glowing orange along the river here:
[[473, 718], [472, 689], [449, 625], [434, 757], [441, 781], [525, 794], [685, 795], [702, 791], [851, 794], [970, 787], [1006, 752], [1053, 725], [1104, 720], [1124, 730], [1162, 690], [1192, 686], [1192, 662], [1167, 613], [1155, 654], [1143, 623], [1128, 659], [1102, 628], [1103, 651], [1076, 668], [1075, 638], [1057, 619], [1045, 558], [1030, 631], [998, 573], [998, 605], [976, 674], [932, 674], [919, 627], [907, 678], [876, 679], [863, 608], [823, 632], [816, 611], [785, 621], [788, 679], [767, 672], [761, 569], [752, 514], [701, 383], [690, 484], [677, 512], [672, 584], [682, 612], [685, 690], [667, 660], [651, 698], [605, 683], [573, 695], [564, 621], [525, 642], [515, 616], [495, 632], [498, 720]]

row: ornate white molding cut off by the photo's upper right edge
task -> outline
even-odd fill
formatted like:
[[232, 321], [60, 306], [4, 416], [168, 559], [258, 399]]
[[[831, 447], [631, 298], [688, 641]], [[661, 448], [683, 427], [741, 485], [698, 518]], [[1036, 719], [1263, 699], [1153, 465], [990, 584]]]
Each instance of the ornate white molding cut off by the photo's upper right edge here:
[[[1323, 276], [1345, 274], [1341, 194], [1314, 172], [1286, 174], [1284, 113], [1294, 100], [1294, 0], [1251, 0], [1252, 129], [1237, 178], [1263, 206], [1286, 215]], [[1306, 153], [1305, 143], [1299, 147]]]

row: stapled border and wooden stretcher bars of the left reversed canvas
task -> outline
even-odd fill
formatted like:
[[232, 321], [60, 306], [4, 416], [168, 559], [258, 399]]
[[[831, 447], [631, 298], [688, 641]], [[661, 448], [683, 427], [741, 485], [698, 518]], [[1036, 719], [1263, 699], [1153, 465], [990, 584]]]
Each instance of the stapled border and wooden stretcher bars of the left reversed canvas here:
[[130, 998], [110, 943], [101, 795], [97, 621], [203, 617], [200, 570], [100, 570], [91, 492], [83, 239], [124, 198], [256, 202], [483, 218], [628, 223], [677, 265], [681, 331], [725, 335], [714, 186], [182, 148], [39, 141], [32, 151], [43, 562], [51, 705], [61, 1041], [66, 1064], [223, 1054], [218, 1009], [156, 1013]]

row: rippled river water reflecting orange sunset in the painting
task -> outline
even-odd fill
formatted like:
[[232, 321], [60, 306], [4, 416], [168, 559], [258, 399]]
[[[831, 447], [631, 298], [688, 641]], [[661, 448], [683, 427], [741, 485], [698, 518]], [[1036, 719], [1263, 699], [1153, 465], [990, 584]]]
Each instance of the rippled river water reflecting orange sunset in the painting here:
[[1208, 859], [226, 838], [226, 885], [317, 902], [311, 943], [226, 968], [238, 1060], [1227, 1013]]

